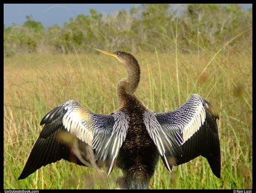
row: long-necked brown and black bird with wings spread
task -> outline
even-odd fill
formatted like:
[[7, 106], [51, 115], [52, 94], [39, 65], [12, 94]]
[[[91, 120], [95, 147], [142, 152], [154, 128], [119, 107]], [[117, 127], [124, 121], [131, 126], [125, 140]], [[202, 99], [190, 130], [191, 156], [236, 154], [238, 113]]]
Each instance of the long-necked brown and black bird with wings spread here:
[[174, 111], [153, 112], [134, 94], [140, 81], [137, 59], [123, 51], [96, 50], [126, 68], [127, 78], [116, 89], [120, 107], [111, 114], [95, 114], [70, 100], [52, 109], [40, 123], [44, 127], [18, 180], [64, 159], [104, 168], [107, 175], [118, 167], [123, 171], [118, 189], [148, 189], [159, 158], [171, 171], [200, 155], [220, 178], [219, 115], [213, 106], [192, 94]]

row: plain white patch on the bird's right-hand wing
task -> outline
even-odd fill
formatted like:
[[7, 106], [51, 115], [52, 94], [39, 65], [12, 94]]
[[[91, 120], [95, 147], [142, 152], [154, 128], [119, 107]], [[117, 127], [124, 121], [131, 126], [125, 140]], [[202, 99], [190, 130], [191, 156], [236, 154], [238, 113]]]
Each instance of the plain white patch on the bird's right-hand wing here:
[[196, 112], [193, 113], [190, 122], [188, 122], [188, 124], [185, 125], [183, 129], [183, 143], [185, 143], [188, 139], [190, 139], [191, 136], [193, 136], [194, 133], [198, 131], [201, 125], [204, 124], [205, 118], [205, 108], [203, 106], [203, 103], [200, 102], [198, 104]]

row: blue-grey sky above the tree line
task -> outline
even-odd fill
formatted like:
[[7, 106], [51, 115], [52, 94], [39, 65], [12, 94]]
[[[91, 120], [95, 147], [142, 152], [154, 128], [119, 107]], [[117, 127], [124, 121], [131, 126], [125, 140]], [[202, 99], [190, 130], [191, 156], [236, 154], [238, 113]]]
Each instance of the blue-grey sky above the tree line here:
[[[103, 15], [126, 9], [132, 5], [139, 4], [4, 4], [4, 24], [10, 26], [12, 23], [23, 24], [26, 16], [32, 15], [33, 19], [41, 22], [45, 27], [58, 24], [63, 26], [69, 22], [69, 18], [76, 18], [79, 14], [88, 15], [90, 9], [96, 9]], [[177, 8], [179, 6], [174, 5]], [[242, 4], [243, 9], [252, 8], [252, 4]]]

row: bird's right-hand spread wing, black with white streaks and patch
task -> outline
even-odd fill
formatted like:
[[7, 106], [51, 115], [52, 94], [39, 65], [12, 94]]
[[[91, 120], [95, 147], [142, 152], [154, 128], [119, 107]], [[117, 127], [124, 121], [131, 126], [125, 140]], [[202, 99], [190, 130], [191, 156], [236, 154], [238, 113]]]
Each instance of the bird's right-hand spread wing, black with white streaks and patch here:
[[218, 114], [201, 96], [193, 94], [176, 111], [145, 111], [144, 123], [167, 169], [199, 155], [207, 158], [213, 174], [220, 177]]

